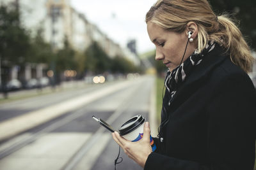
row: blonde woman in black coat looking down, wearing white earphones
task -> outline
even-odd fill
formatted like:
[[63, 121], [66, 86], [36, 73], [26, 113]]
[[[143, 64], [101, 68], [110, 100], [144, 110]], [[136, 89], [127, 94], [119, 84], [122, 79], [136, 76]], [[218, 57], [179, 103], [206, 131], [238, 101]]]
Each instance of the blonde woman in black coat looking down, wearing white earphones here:
[[156, 60], [169, 69], [157, 150], [148, 123], [138, 142], [113, 139], [144, 169], [253, 169], [253, 57], [239, 29], [206, 0], [159, 0], [146, 22]]

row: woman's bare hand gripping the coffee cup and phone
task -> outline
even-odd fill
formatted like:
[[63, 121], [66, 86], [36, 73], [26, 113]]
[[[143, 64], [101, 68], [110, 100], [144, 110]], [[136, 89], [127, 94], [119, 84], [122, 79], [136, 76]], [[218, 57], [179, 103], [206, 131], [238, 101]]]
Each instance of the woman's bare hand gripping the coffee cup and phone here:
[[140, 141], [132, 142], [124, 139], [118, 132], [112, 133], [113, 139], [120, 145], [129, 158], [133, 159], [141, 167], [145, 166], [148, 155], [152, 152], [150, 146], [150, 127], [145, 122], [143, 129], [143, 138]]

